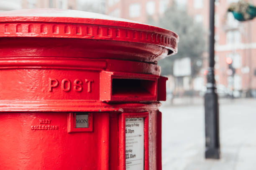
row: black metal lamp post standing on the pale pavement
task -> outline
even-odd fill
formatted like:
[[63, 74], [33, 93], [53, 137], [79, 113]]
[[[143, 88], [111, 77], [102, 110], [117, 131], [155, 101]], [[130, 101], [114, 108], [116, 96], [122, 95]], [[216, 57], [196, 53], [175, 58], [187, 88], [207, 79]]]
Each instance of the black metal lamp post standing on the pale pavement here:
[[205, 158], [220, 159], [219, 104], [214, 77], [215, 0], [210, 0], [209, 68], [205, 93]]

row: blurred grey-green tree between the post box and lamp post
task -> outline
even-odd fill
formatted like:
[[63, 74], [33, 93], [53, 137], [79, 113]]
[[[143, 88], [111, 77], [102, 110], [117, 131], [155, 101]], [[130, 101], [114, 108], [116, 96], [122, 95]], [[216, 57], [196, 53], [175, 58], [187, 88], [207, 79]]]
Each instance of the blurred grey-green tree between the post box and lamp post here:
[[205, 51], [203, 25], [195, 23], [187, 11], [180, 10], [175, 5], [166, 10], [156, 25], [179, 35], [178, 53], [159, 61], [162, 75], [173, 75], [174, 60], [182, 57], [190, 57], [192, 77], [197, 75], [202, 67], [202, 53]]

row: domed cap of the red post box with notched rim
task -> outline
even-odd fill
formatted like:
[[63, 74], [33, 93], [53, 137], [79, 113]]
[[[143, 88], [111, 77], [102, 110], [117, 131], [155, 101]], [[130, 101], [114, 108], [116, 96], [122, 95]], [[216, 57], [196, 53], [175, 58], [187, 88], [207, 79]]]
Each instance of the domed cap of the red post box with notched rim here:
[[0, 37], [54, 37], [112, 40], [157, 45], [177, 52], [170, 30], [77, 10], [26, 9], [0, 13]]

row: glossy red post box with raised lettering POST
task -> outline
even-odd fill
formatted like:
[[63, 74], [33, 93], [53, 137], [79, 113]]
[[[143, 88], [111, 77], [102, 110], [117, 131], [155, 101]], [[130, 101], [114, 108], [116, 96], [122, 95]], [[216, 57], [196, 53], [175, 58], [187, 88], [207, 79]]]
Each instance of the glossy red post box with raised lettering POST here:
[[73, 10], [0, 13], [1, 170], [161, 170], [169, 30]]

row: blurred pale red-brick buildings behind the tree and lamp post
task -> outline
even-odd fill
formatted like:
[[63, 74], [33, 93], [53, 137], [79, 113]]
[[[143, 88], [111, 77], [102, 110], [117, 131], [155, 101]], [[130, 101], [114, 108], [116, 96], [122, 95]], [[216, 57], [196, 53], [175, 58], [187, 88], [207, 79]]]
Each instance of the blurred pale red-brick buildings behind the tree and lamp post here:
[[[249, 0], [256, 5], [256, 0]], [[148, 18], [157, 20], [173, 0], [107, 0], [106, 13], [115, 17], [146, 23]], [[209, 29], [209, 0], [176, 0], [178, 7], [185, 7], [195, 22], [202, 23]], [[256, 96], [256, 19], [238, 22], [232, 13], [227, 13], [228, 6], [238, 0], [216, 0], [215, 2], [215, 79], [225, 90], [235, 90], [235, 95]], [[200, 36], [200, 35], [199, 35]], [[208, 36], [208, 35], [202, 35]], [[194, 90], [202, 89], [206, 83], [207, 50], [204, 54], [203, 68], [193, 80]], [[226, 63], [231, 57], [235, 74]], [[182, 78], [180, 85], [187, 89], [189, 76]], [[183, 80], [184, 79], [184, 80]], [[186, 81], [185, 81], [186, 80]]]

